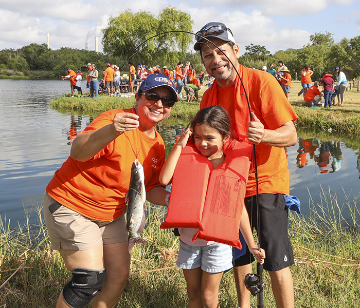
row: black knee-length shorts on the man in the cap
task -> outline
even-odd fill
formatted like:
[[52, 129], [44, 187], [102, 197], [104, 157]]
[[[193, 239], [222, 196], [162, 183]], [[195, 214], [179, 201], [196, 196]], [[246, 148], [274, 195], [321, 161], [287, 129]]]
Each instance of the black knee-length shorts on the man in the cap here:
[[[253, 213], [251, 214], [251, 203]], [[256, 196], [245, 198], [247, 213], [253, 220], [252, 226], [257, 229]], [[260, 235], [261, 248], [265, 250], [266, 258], [263, 268], [266, 271], [279, 271], [294, 264], [293, 248], [287, 235], [287, 207], [284, 195], [260, 194]], [[246, 247], [245, 255], [235, 260], [235, 266], [254, 262], [254, 256]]]

